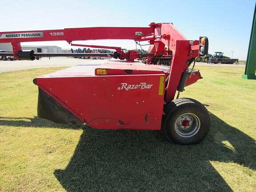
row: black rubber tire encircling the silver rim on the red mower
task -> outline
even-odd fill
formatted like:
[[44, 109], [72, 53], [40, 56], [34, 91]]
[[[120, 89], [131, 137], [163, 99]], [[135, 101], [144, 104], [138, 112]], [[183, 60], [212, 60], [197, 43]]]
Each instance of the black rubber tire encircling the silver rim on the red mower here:
[[[164, 108], [165, 116], [163, 119], [162, 131], [168, 140], [172, 140], [177, 144], [197, 144], [208, 135], [211, 127], [211, 119], [207, 109], [197, 100], [190, 98], [180, 98], [173, 100]], [[178, 119], [184, 114], [192, 114], [197, 120], [193, 122], [199, 122], [199, 126], [196, 131], [192, 130], [191, 136], [181, 136], [180, 130], [177, 131], [176, 123]], [[192, 123], [192, 126], [196, 124]], [[189, 133], [189, 130], [188, 132]], [[194, 134], [194, 135], [193, 135]]]

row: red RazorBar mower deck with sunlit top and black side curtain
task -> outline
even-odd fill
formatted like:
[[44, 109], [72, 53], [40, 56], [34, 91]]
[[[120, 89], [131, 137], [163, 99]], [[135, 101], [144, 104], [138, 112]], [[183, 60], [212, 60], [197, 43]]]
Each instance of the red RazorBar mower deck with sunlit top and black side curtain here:
[[38, 77], [38, 117], [94, 128], [159, 130], [168, 68], [110, 60]]

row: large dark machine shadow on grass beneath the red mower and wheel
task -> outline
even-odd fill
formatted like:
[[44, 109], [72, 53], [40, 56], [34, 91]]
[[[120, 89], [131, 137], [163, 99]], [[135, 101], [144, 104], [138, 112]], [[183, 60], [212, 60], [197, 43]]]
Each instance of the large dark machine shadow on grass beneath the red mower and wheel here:
[[255, 140], [211, 119], [207, 138], [190, 146], [170, 143], [160, 132], [84, 126], [68, 166], [54, 175], [68, 192], [232, 191], [210, 161], [256, 169]]

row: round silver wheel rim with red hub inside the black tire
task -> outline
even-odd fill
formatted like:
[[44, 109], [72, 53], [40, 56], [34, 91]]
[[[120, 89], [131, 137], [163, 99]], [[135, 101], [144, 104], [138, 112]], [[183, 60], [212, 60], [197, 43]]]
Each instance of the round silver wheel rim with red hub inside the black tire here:
[[192, 137], [200, 129], [200, 120], [193, 113], [184, 113], [180, 115], [175, 122], [176, 133], [184, 138]]

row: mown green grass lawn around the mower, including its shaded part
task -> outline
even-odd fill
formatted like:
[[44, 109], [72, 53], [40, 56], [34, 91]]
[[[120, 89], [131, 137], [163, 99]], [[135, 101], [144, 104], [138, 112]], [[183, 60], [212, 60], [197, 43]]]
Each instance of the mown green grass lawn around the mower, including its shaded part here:
[[256, 191], [256, 80], [243, 68], [200, 67], [204, 79], [181, 93], [211, 113], [191, 146], [37, 119], [32, 79], [59, 69], [0, 74], [0, 191]]

